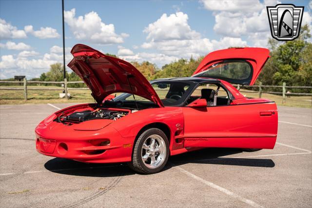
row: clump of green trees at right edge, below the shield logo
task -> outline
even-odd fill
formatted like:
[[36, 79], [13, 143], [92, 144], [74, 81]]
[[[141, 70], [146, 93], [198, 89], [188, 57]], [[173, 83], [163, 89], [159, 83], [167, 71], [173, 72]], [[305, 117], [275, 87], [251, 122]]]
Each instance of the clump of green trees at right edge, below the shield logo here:
[[269, 40], [271, 58], [259, 81], [267, 85], [312, 85], [312, 43], [308, 25], [301, 28], [298, 39], [288, 42]]

